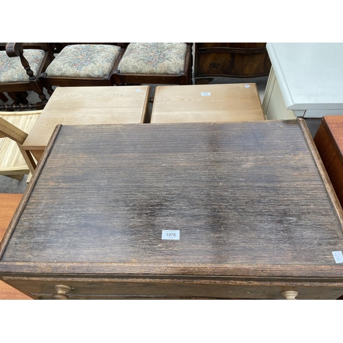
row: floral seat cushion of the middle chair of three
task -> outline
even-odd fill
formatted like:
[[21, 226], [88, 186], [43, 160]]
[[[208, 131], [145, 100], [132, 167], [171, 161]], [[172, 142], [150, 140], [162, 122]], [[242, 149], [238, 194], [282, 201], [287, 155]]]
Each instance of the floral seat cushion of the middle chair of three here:
[[47, 67], [47, 76], [104, 78], [119, 56], [115, 45], [67, 45]]

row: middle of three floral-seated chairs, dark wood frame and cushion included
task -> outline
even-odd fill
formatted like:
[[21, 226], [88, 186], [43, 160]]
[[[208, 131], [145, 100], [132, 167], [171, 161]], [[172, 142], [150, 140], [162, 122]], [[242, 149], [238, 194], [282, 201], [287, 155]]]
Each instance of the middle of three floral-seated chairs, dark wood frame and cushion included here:
[[111, 75], [122, 52], [115, 43], [67, 45], [40, 80], [50, 95], [52, 86], [112, 86]]

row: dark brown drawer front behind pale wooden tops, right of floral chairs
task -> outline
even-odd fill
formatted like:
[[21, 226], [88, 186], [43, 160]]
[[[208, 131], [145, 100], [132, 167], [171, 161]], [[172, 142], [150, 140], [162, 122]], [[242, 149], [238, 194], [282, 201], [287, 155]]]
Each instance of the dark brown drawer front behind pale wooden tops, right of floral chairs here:
[[261, 76], [271, 67], [267, 53], [206, 52], [198, 55], [198, 76]]

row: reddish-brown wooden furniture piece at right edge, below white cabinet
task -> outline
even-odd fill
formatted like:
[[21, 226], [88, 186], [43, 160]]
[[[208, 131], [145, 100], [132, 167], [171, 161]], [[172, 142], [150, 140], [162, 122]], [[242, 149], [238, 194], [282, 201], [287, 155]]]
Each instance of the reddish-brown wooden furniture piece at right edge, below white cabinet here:
[[343, 117], [324, 116], [314, 142], [343, 206]]

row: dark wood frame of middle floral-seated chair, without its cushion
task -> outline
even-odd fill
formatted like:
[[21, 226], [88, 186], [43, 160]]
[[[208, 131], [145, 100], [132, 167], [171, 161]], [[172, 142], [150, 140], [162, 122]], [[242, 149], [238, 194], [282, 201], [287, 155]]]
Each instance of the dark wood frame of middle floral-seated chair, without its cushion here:
[[105, 78], [76, 78], [76, 77], [67, 77], [67, 76], [49, 76], [47, 73], [40, 73], [39, 80], [42, 82], [43, 86], [47, 88], [47, 92], [49, 95], [54, 93], [54, 89], [52, 86], [114, 86], [112, 74], [117, 69], [117, 64], [121, 59], [121, 55], [123, 54], [124, 47], [126, 43], [62, 43], [65, 46], [67, 45], [75, 45], [75, 44], [106, 44], [106, 45], [117, 45], [121, 47], [121, 51], [119, 52], [119, 56], [117, 61], [113, 65], [113, 69], [110, 71], [109, 75], [106, 75]]

